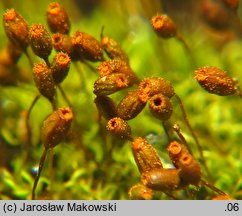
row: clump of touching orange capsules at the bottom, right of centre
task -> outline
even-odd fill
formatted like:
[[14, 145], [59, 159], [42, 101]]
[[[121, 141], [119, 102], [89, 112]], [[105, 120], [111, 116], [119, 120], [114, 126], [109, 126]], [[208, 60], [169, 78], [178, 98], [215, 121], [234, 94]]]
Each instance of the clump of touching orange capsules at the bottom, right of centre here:
[[199, 163], [185, 145], [177, 141], [168, 145], [174, 168], [163, 168], [154, 147], [141, 137], [132, 142], [132, 149], [141, 181], [130, 188], [131, 199], [152, 199], [153, 191], [171, 192], [199, 185], [202, 177]]

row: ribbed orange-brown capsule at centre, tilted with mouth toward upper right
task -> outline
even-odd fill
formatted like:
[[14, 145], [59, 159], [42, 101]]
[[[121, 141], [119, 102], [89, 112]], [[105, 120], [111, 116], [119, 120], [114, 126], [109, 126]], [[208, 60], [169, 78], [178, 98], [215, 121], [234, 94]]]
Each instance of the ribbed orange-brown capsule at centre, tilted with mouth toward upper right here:
[[118, 116], [124, 120], [135, 118], [144, 109], [146, 101], [140, 91], [129, 92], [117, 105]]

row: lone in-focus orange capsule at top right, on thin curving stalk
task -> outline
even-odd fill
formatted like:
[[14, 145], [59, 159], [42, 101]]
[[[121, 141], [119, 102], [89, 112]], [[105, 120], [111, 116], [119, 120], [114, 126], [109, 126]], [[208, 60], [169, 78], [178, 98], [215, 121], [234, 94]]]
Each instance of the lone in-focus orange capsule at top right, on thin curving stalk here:
[[158, 36], [162, 38], [175, 37], [177, 34], [176, 24], [167, 15], [156, 15], [151, 19], [151, 25]]

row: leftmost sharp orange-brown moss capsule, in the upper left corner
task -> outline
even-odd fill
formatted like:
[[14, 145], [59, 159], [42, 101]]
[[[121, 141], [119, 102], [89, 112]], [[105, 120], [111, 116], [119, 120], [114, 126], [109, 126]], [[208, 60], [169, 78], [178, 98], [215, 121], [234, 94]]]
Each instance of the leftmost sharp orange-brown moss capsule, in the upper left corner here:
[[3, 14], [3, 26], [8, 39], [14, 46], [25, 51], [28, 44], [29, 28], [24, 18], [14, 9]]

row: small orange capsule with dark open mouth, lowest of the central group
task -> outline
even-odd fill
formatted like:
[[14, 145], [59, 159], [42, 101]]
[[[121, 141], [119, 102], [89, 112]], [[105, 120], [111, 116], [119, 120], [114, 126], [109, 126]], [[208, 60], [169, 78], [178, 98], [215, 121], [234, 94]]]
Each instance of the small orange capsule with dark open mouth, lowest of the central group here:
[[131, 139], [131, 128], [126, 121], [119, 117], [112, 118], [107, 123], [107, 130], [122, 139]]

